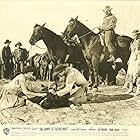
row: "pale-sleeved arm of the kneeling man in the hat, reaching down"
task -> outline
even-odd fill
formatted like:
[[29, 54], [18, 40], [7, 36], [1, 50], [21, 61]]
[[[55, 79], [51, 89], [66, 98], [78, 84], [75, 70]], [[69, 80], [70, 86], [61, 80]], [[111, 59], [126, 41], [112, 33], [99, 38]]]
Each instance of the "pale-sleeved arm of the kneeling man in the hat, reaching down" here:
[[71, 73], [66, 78], [65, 88], [61, 89], [60, 91], [57, 91], [56, 94], [58, 96], [66, 95], [67, 93], [69, 93], [72, 90], [74, 83], [75, 83], [75, 75], [74, 75], [74, 73]]

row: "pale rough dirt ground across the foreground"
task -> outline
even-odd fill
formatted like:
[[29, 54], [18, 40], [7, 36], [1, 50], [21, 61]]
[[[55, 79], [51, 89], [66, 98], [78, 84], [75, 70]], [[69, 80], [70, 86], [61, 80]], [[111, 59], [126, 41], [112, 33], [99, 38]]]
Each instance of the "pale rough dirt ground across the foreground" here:
[[[122, 81], [122, 80], [121, 80]], [[7, 83], [0, 81], [0, 88]], [[92, 102], [79, 108], [44, 110], [27, 103], [0, 112], [1, 124], [140, 125], [140, 96], [125, 94], [122, 86], [100, 86]]]

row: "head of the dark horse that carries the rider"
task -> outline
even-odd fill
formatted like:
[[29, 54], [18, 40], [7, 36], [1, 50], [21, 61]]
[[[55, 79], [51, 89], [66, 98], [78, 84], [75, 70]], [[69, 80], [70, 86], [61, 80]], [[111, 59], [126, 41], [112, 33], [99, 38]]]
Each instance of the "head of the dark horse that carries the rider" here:
[[69, 21], [69, 24], [67, 25], [63, 35], [66, 37], [66, 38], [71, 38], [73, 37], [74, 35], [77, 34], [78, 30], [79, 30], [79, 26], [78, 26], [78, 16], [76, 18], [71, 18], [70, 21]]

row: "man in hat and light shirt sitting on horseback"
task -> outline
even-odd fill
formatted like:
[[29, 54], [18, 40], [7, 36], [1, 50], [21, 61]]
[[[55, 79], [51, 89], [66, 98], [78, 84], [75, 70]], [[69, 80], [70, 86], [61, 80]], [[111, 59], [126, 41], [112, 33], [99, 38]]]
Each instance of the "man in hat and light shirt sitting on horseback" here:
[[105, 17], [103, 19], [103, 24], [99, 29], [104, 33], [104, 41], [105, 45], [110, 52], [110, 58], [107, 60], [108, 62], [117, 62], [117, 51], [115, 46], [113, 45], [113, 37], [115, 35], [114, 29], [116, 27], [117, 18], [111, 13], [112, 8], [110, 6], [106, 6]]

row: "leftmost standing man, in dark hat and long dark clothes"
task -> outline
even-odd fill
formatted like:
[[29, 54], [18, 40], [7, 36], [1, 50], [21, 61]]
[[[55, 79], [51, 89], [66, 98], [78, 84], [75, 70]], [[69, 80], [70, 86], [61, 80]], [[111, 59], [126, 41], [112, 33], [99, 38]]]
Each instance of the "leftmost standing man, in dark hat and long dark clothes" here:
[[3, 78], [10, 78], [12, 72], [12, 53], [9, 47], [11, 41], [6, 40], [4, 42], [5, 46], [2, 49], [2, 60], [3, 60]]

